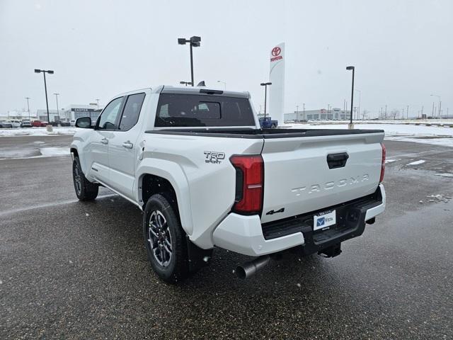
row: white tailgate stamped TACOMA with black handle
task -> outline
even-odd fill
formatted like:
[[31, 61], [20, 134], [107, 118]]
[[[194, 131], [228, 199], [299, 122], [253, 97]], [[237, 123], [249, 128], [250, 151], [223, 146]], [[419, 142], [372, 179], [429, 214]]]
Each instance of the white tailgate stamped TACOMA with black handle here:
[[384, 132], [265, 138], [261, 222], [374, 193], [381, 174], [383, 139]]

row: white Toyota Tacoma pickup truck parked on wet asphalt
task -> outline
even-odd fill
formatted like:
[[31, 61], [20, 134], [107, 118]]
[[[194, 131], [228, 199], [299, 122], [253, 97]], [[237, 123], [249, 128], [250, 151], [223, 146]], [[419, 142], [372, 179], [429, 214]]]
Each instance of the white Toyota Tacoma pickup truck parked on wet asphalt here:
[[260, 129], [247, 92], [159, 86], [121, 94], [71, 143], [76, 195], [105, 186], [143, 211], [151, 267], [176, 282], [215, 246], [340, 254], [384, 211], [382, 130]]

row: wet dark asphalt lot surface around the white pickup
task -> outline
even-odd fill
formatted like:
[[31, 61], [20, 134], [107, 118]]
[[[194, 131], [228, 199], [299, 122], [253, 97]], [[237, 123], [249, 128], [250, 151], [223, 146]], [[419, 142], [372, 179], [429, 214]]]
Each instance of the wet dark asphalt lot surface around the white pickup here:
[[134, 205], [75, 200], [70, 157], [0, 160], [0, 339], [452, 339], [453, 149], [386, 147], [387, 210], [341, 256], [243, 281], [246, 257], [216, 249], [176, 286], [149, 268]]

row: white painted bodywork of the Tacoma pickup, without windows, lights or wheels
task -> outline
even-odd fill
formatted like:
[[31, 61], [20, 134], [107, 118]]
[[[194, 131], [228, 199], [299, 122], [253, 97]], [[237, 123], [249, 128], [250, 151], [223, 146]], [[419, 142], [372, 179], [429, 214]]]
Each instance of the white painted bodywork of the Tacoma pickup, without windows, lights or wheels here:
[[[142, 191], [144, 176], [166, 179], [176, 193], [183, 229], [190, 240], [203, 249], [221, 246], [259, 256], [304, 244], [302, 232], [265, 239], [261, 224], [367, 196], [378, 187], [382, 132], [291, 138], [162, 133], [159, 130], [171, 130], [154, 128], [162, 89], [123, 94], [146, 93], [137, 124], [128, 131], [80, 129], [74, 135], [71, 150], [79, 154], [82, 170], [89, 181], [112, 188], [140, 208], [146, 204]], [[177, 91], [199, 90], [182, 88]], [[228, 94], [235, 95], [233, 92]], [[247, 128], [259, 129], [258, 118], [254, 118], [255, 125]], [[107, 144], [101, 142], [105, 139]], [[132, 147], [124, 147], [124, 142], [130, 142]], [[223, 153], [224, 157], [214, 164], [207, 162], [206, 152]], [[350, 156], [346, 166], [328, 169], [327, 155], [340, 152]], [[231, 212], [236, 195], [236, 170], [229, 158], [236, 154], [261, 154], [263, 157], [261, 217]], [[343, 179], [347, 182], [344, 185]], [[367, 211], [367, 220], [384, 210], [383, 187], [381, 191], [382, 204]], [[282, 207], [284, 212], [265, 214]]]

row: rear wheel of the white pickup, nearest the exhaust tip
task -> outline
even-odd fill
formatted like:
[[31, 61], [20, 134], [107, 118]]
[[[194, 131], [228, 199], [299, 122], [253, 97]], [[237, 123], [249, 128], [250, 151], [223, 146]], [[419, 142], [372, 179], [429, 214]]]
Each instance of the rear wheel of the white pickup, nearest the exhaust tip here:
[[183, 280], [189, 274], [185, 232], [173, 206], [156, 194], [144, 208], [143, 237], [151, 268], [168, 283]]

